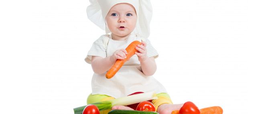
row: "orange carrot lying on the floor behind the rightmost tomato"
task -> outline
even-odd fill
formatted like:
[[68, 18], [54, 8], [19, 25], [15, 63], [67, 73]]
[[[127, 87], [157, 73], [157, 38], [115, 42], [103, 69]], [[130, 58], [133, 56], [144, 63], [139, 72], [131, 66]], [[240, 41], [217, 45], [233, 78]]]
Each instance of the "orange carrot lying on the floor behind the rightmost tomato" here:
[[[200, 109], [200, 114], [222, 114], [223, 110], [219, 106], [212, 106]], [[179, 114], [179, 110], [173, 110], [171, 114]]]

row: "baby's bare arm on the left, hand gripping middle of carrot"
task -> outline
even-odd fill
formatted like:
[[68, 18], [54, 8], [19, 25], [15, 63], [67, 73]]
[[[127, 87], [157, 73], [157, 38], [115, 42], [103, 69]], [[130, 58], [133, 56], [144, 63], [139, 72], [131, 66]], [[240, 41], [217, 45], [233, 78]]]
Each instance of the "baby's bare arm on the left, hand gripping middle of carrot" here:
[[126, 58], [127, 51], [125, 49], [116, 50], [112, 56], [102, 58], [99, 56], [92, 56], [91, 67], [96, 74], [102, 74], [108, 71], [116, 62], [117, 59], [124, 60]]

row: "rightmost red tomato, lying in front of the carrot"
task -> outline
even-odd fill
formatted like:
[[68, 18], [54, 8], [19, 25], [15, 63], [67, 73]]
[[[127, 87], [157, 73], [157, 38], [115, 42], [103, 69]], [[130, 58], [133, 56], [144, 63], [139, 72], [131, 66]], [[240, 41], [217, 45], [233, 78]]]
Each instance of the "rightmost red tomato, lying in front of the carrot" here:
[[183, 104], [179, 114], [200, 114], [200, 110], [193, 102], [188, 101]]

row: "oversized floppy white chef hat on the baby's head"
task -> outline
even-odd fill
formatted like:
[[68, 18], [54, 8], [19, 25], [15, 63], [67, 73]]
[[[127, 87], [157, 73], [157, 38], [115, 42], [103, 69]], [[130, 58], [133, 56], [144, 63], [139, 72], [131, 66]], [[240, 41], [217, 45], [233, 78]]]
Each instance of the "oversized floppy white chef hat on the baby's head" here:
[[136, 27], [133, 30], [134, 34], [148, 38], [150, 34], [149, 24], [152, 18], [152, 6], [150, 0], [89, 0], [91, 5], [86, 9], [87, 16], [94, 24], [99, 26], [106, 34], [110, 30], [106, 26], [106, 15], [112, 6], [119, 3], [128, 3], [134, 6], [137, 14]]

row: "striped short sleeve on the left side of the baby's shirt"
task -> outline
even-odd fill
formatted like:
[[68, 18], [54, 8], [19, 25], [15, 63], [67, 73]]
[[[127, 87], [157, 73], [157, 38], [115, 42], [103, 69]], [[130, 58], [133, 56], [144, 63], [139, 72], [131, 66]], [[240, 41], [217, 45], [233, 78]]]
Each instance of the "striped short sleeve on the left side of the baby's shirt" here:
[[95, 42], [93, 42], [91, 49], [89, 50], [85, 62], [91, 64], [91, 57], [92, 56], [99, 56], [102, 58], [106, 58], [106, 47], [108, 43], [108, 37], [105, 35], [100, 36]]

